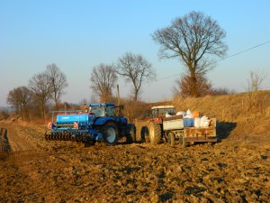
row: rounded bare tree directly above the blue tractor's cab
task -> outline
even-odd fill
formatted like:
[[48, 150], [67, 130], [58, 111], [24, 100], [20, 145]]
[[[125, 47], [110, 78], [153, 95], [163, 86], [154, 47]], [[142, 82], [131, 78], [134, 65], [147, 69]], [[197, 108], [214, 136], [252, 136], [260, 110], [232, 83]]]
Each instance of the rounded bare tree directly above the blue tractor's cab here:
[[90, 81], [94, 93], [104, 102], [112, 97], [112, 88], [115, 87], [117, 82], [115, 69], [111, 65], [101, 63], [94, 67]]

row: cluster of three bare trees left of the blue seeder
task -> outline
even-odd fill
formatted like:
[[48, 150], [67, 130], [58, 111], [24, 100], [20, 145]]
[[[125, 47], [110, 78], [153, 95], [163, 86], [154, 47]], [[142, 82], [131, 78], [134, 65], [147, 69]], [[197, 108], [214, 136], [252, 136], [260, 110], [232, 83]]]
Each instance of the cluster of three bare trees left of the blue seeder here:
[[67, 85], [66, 75], [53, 63], [45, 71], [32, 76], [27, 87], [10, 90], [6, 102], [14, 107], [16, 115], [21, 115], [23, 120], [30, 120], [32, 116], [45, 120], [47, 103], [53, 101], [57, 110]]

